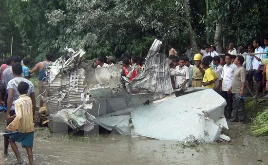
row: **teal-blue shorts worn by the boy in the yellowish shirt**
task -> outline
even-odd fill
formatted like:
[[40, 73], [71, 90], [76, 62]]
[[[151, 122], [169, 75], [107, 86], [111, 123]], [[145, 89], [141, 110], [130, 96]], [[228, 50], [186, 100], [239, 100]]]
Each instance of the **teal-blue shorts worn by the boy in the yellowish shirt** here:
[[34, 146], [34, 134], [35, 132], [28, 132], [28, 133], [16, 133], [14, 135], [9, 136], [9, 140], [21, 143], [21, 147], [30, 147]]

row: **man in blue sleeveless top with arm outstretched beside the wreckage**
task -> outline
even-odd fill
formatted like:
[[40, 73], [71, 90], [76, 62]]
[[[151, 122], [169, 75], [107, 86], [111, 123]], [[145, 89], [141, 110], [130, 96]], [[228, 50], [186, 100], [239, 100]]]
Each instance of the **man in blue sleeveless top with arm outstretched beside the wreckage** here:
[[[31, 71], [30, 74], [35, 73], [36, 71], [39, 71], [39, 77], [38, 77], [38, 90], [39, 94], [43, 93], [45, 91], [45, 87], [47, 85], [47, 77], [46, 77], [46, 68], [48, 66], [52, 65], [53, 54], [47, 53], [45, 57], [45, 61], [39, 62]], [[42, 99], [40, 99], [40, 107], [45, 107], [45, 104]]]

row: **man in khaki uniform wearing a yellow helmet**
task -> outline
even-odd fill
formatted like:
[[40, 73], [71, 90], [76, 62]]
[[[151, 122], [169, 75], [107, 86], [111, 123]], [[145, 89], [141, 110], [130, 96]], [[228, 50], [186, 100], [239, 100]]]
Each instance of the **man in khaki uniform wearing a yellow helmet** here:
[[193, 57], [194, 66], [193, 66], [193, 73], [192, 73], [192, 82], [191, 87], [202, 87], [202, 80], [205, 74], [205, 70], [202, 68], [201, 60], [202, 55], [196, 54]]

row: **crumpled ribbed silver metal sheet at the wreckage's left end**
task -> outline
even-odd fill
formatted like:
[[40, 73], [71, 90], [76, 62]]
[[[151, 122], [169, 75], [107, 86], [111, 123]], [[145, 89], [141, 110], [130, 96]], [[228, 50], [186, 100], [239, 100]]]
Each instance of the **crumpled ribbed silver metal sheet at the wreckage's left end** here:
[[86, 72], [80, 66], [85, 52], [66, 48], [71, 56], [67, 61], [60, 57], [51, 66], [47, 91], [42, 98], [46, 102], [49, 114], [54, 114], [63, 106], [72, 104], [78, 106], [82, 104], [81, 93], [85, 92], [87, 86]]

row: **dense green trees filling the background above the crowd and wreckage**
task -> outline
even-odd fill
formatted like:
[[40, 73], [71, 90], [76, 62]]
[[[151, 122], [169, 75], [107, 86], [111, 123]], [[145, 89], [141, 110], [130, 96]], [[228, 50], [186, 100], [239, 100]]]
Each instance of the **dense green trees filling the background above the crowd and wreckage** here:
[[173, 43], [182, 54], [193, 39], [239, 46], [267, 34], [266, 0], [207, 1], [1, 0], [0, 54], [10, 53], [12, 36], [15, 55], [40, 61], [48, 51], [61, 55], [66, 46], [85, 49], [88, 59], [146, 55], [158, 38], [163, 52]]

